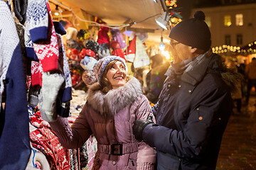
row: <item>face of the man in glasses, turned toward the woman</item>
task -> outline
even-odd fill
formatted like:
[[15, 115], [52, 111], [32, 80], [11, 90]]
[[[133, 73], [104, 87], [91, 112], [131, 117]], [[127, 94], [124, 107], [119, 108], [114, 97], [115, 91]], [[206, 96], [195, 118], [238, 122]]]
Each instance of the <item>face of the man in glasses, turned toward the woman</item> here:
[[193, 52], [195, 51], [194, 48], [192, 49], [188, 45], [183, 45], [174, 39], [170, 40], [170, 50], [174, 56], [174, 64], [192, 58]]

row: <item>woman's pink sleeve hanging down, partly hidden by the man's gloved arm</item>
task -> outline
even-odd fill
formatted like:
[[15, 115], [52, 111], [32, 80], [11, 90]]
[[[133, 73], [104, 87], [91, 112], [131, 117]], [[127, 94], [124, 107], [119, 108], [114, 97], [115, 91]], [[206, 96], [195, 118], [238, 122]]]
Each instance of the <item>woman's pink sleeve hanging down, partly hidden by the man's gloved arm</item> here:
[[[137, 120], [146, 120], [149, 115], [153, 117], [153, 121], [156, 122], [154, 115], [149, 106], [149, 101], [146, 96], [139, 98], [139, 103], [136, 111]], [[156, 151], [153, 147], [150, 147], [145, 142], [139, 142], [139, 151], [137, 155], [137, 169], [154, 169], [156, 164]]]

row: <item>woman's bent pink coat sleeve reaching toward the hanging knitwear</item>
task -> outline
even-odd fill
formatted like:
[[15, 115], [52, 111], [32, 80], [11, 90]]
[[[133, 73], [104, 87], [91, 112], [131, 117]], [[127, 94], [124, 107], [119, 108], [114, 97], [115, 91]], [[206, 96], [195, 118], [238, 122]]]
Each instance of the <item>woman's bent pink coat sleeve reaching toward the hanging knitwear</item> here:
[[62, 118], [59, 115], [55, 122], [50, 123], [50, 128], [56, 132], [58, 140], [63, 147], [68, 149], [82, 147], [92, 135], [90, 125], [87, 123], [86, 111], [87, 105], [82, 108], [80, 115], [71, 127], [68, 125], [68, 118]]

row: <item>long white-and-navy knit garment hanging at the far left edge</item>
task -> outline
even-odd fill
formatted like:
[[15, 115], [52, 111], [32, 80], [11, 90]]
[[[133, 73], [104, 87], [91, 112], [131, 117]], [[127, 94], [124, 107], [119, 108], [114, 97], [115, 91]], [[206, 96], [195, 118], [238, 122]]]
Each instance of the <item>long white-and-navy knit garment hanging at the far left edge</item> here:
[[6, 2], [0, 11], [0, 169], [25, 169], [31, 147], [21, 45]]

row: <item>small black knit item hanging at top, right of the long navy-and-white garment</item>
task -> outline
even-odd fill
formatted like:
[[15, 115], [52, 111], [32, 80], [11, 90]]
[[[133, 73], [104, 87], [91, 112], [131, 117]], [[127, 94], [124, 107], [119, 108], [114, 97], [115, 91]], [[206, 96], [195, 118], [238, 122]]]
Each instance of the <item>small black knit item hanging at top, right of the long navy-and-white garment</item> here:
[[26, 8], [28, 6], [27, 0], [13, 0], [14, 4], [14, 13], [15, 16], [18, 18], [18, 21], [21, 24], [25, 23], [26, 21]]

